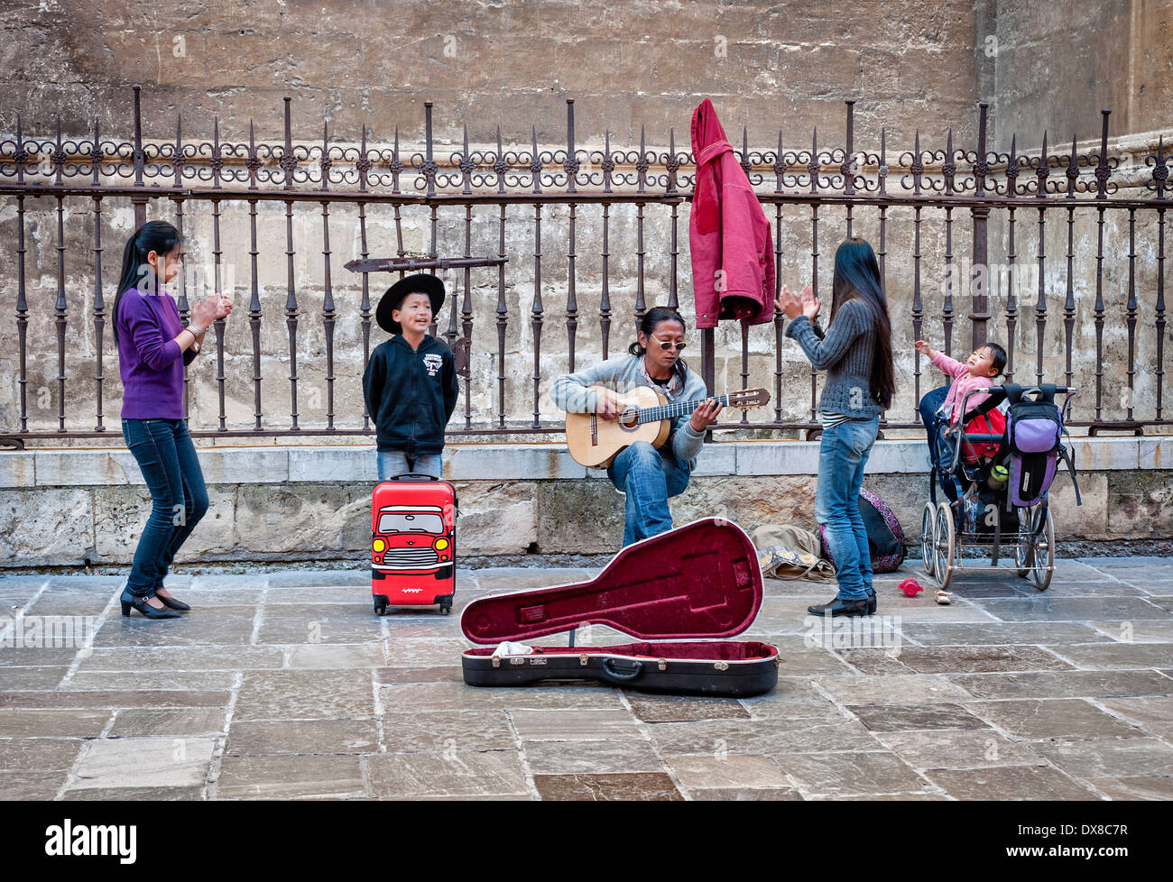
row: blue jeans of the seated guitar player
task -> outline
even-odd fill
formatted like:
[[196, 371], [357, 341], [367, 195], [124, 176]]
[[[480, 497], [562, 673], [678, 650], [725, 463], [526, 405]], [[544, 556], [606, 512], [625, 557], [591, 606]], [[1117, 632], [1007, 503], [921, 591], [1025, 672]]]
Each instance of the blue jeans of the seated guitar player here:
[[667, 443], [657, 450], [646, 441], [636, 441], [615, 457], [606, 476], [626, 495], [624, 547], [672, 529], [667, 501], [684, 493], [689, 475], [689, 467], [671, 454]]

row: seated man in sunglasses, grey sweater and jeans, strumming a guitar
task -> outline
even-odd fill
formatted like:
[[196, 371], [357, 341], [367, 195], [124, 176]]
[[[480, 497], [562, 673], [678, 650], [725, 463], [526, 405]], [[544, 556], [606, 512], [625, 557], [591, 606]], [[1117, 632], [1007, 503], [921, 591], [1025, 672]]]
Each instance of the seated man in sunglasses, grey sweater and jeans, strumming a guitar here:
[[[554, 403], [568, 413], [596, 413], [613, 420], [619, 406], [612, 393], [622, 394], [633, 386], [659, 389], [670, 402], [704, 399], [705, 381], [680, 360], [684, 331], [684, 319], [676, 310], [652, 307], [639, 323], [639, 337], [628, 350], [630, 354], [563, 374], [554, 381]], [[606, 392], [590, 392], [588, 386], [603, 386]], [[720, 403], [710, 399], [691, 415], [674, 418], [667, 441], [659, 449], [636, 441], [608, 466], [611, 483], [626, 495], [624, 545], [672, 529], [667, 501], [689, 486], [705, 429], [720, 412]]]

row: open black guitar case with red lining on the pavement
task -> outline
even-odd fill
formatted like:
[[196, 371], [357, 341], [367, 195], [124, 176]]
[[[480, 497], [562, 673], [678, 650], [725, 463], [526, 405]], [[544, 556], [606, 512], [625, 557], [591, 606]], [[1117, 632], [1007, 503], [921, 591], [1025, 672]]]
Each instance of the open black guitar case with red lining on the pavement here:
[[[477, 644], [461, 657], [470, 686], [597, 680], [647, 692], [755, 696], [778, 683], [778, 649], [728, 640], [761, 608], [761, 568], [728, 521], [694, 521], [629, 545], [589, 582], [495, 595], [461, 616]], [[575, 646], [574, 629], [613, 627], [639, 643]], [[571, 631], [570, 646], [509, 653], [501, 644]]]

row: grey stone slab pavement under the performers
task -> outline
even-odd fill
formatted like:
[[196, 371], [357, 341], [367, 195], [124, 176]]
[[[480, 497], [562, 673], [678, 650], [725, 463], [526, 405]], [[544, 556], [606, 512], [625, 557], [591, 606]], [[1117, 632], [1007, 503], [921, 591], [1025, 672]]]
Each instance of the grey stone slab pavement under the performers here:
[[[590, 575], [460, 571], [454, 615], [386, 618], [365, 570], [176, 576], [178, 622], [122, 618], [120, 577], [0, 577], [0, 799], [1173, 798], [1171, 559], [1064, 559], [1046, 593], [967, 570], [949, 606], [910, 562], [876, 578], [897, 645], [768, 581], [753, 699], [463, 684], [468, 602]], [[27, 645], [35, 616], [95, 616], [91, 649]]]

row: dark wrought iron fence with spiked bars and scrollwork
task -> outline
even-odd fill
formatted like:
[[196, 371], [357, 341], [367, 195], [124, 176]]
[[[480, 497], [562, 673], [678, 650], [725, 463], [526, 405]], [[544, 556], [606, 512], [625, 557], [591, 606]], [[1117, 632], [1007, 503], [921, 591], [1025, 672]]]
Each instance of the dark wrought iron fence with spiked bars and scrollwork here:
[[[362, 258], [391, 256], [371, 253], [368, 219], [373, 211], [391, 213], [399, 257], [412, 253], [405, 244], [406, 212], [413, 212], [412, 217], [426, 225], [428, 250], [420, 257], [428, 259], [474, 257], [474, 228], [479, 240], [495, 228], [495, 253], [488, 256], [506, 259], [513, 280], [507, 280], [504, 264], [488, 271], [465, 267], [457, 273], [447, 317], [438, 317], [440, 333], [450, 345], [474, 358], [495, 361], [495, 376], [486, 388], [476, 388], [474, 371], [466, 367], [462, 372], [463, 419], [454, 420], [454, 435], [560, 430], [561, 414], [549, 405], [543, 411], [543, 391], [552, 379], [550, 359], [543, 360], [542, 354], [543, 345], [548, 353], [551, 348], [550, 326], [561, 325], [564, 334], [554, 345], [560, 369], [582, 364], [584, 353], [577, 342], [586, 321], [597, 323], [601, 345], [585, 355], [594, 359], [615, 354], [619, 348], [613, 341], [616, 324], [630, 332], [652, 305], [646, 290], [650, 255], [657, 259], [657, 279], [663, 280], [666, 304], [685, 308], [691, 304], [691, 297], [682, 294], [690, 274], [680, 263], [682, 251], [686, 255], [682, 237], [687, 235], [686, 225], [680, 228], [686, 220], [682, 205], [686, 206], [691, 198], [693, 160], [687, 151], [677, 149], [674, 131], [669, 134], [666, 150], [649, 149], [643, 134], [638, 148], [615, 149], [609, 135], [601, 148], [583, 148], [575, 140], [574, 102], [568, 101], [564, 147], [541, 148], [531, 131], [528, 149], [507, 149], [497, 127], [495, 145], [469, 149], [466, 128], [460, 148], [438, 160], [430, 102], [426, 103], [422, 149], [409, 152], [400, 149], [398, 130], [387, 145], [368, 144], [365, 128], [354, 144], [339, 143], [337, 137], [332, 143], [326, 128], [320, 143], [294, 143], [290, 99], [285, 99], [283, 143], [257, 143], [251, 123], [248, 142], [225, 141], [218, 122], [210, 142], [185, 141], [178, 120], [174, 141], [144, 141], [138, 99], [135, 87], [133, 141], [108, 140], [96, 124], [91, 136], [65, 138], [60, 122], [54, 137], [30, 138], [18, 117], [15, 137], [0, 142], [0, 223], [6, 231], [6, 244], [0, 246], [0, 279], [8, 287], [6, 299], [11, 297], [8, 303], [15, 307], [11, 313], [14, 325], [8, 331], [15, 330], [16, 351], [9, 353], [15, 387], [8, 407], [0, 406], [0, 437], [9, 446], [21, 446], [28, 439], [100, 437], [110, 432], [104, 402], [114, 353], [106, 325], [113, 294], [109, 279], [117, 274], [117, 267], [111, 273], [109, 258], [103, 258], [107, 249], [102, 229], [103, 210], [111, 203], [124, 205], [129, 201], [136, 225], [147, 219], [150, 208], [155, 216], [172, 219], [181, 233], [194, 212], [210, 209], [213, 262], [209, 285], [215, 290], [222, 290], [224, 284], [224, 212], [248, 212], [249, 303], [244, 321], [251, 340], [246, 355], [251, 358], [248, 381], [252, 421], [233, 423], [228, 413], [232, 376], [225, 371], [225, 358], [239, 353], [226, 351], [226, 323], [222, 320], [215, 326], [215, 353], [209, 353], [216, 359], [218, 415], [210, 423], [192, 422], [197, 435], [355, 435], [372, 430], [366, 413], [335, 413], [335, 332], [340, 323], [358, 326], [355, 348], [360, 340], [365, 364], [371, 350], [371, 285], [381, 286], [362, 276], [354, 284], [358, 303], [339, 307], [335, 290], [343, 286], [331, 276], [331, 210], [339, 206], [357, 212], [357, 251]], [[836, 235], [866, 235], [876, 246], [894, 327], [909, 353], [911, 341], [925, 335], [931, 334], [945, 353], [951, 353], [955, 345], [983, 344], [996, 328], [1005, 334], [1006, 373], [1011, 379], [1074, 384], [1093, 392], [1094, 401], [1091, 395], [1084, 396], [1084, 409], [1077, 412], [1082, 419], [1073, 425], [1092, 434], [1105, 429], [1140, 434], [1146, 426], [1165, 423], [1165, 210], [1169, 205], [1171, 158], [1164, 141], [1139, 156], [1119, 150], [1110, 154], [1110, 111], [1104, 110], [1098, 149], [1079, 152], [1073, 137], [1071, 150], [1064, 154], [1051, 152], [1046, 138], [1031, 156], [1018, 152], [1016, 140], [1002, 152], [991, 150], [988, 143], [988, 108], [983, 103], [972, 149], [957, 148], [950, 129], [943, 148], [923, 147], [917, 134], [911, 149], [900, 150], [890, 147], [886, 131], [881, 131], [876, 149], [860, 150], [855, 144], [853, 104], [846, 102], [846, 131], [840, 145], [820, 144], [818, 134], [812, 134], [809, 147], [787, 147], [779, 133], [777, 147], [751, 149], [743, 130], [738, 154], [773, 223], [779, 284], [789, 284], [791, 279], [809, 281], [816, 292], [828, 294], [830, 266], [826, 258], [820, 262], [823, 249], [832, 244], [828, 224]], [[52, 311], [40, 299], [30, 305], [30, 290], [41, 291], [47, 283], [43, 276], [29, 279], [26, 272], [28, 216], [46, 211], [46, 205], [55, 213], [50, 233], [54, 242], [43, 240], [46, 229], [39, 225], [42, 240], [35, 244], [56, 252]], [[280, 317], [265, 316], [262, 310], [258, 205], [276, 205], [278, 210], [284, 205], [286, 299]], [[320, 208], [324, 267], [321, 277], [312, 280], [299, 274], [299, 243], [294, 240], [294, 208], [308, 205]], [[598, 294], [598, 306], [589, 317], [578, 298], [584, 281], [578, 266], [583, 242], [577, 229], [583, 211], [590, 212], [592, 229], [597, 226], [590, 243], [596, 269], [588, 283]], [[79, 314], [76, 306], [76, 277], [66, 272], [67, 243], [77, 250], [76, 236], [67, 235], [67, 213], [69, 223], [76, 224], [77, 212], [89, 216], [86, 229], [93, 235], [86, 249], [91, 251], [91, 258], [87, 256], [82, 262], [84, 284], [93, 292], [86, 314]], [[619, 212], [622, 230], [616, 223]], [[518, 223], [533, 230], [533, 245], [524, 251], [508, 237]], [[1090, 223], [1096, 225], [1094, 247]], [[447, 230], [449, 224], [462, 233], [462, 249], [450, 247], [450, 237], [441, 242], [441, 226]], [[646, 232], [653, 225], [662, 236], [653, 243], [655, 251], [649, 251]], [[629, 226], [633, 236], [629, 236]], [[1114, 238], [1117, 233], [1123, 237], [1125, 230], [1126, 253]], [[964, 233], [970, 235], [970, 242], [968, 247], [960, 247], [955, 237]], [[1064, 252], [1052, 257], [1049, 246], [1057, 242], [1062, 246], [1064, 238]], [[925, 242], [929, 255], [922, 247]], [[549, 249], [552, 243], [558, 245], [558, 256], [551, 267], [549, 260], [543, 263], [543, 245]], [[633, 257], [633, 298], [625, 297], [623, 303], [612, 299], [617, 246], [625, 252], [625, 260]], [[240, 252], [243, 243], [231, 243], [231, 247]], [[80, 258], [75, 255], [74, 259]], [[476, 277], [474, 285], [474, 273], [489, 274]], [[543, 301], [543, 274], [552, 274], [564, 285], [565, 301], [556, 311]], [[897, 276], [900, 284], [893, 284]], [[344, 285], [351, 290], [350, 279]], [[324, 342], [325, 414], [317, 425], [305, 426], [299, 421], [298, 341], [307, 316], [305, 292], [311, 286], [320, 290], [320, 301], [313, 306], [320, 314]], [[495, 304], [475, 303], [474, 289], [493, 287]], [[521, 293], [515, 289], [528, 291], [522, 293], [529, 300], [524, 316], [510, 314], [507, 291]], [[1094, 299], [1089, 304], [1092, 291]], [[185, 274], [177, 293], [181, 314], [187, 318]], [[934, 312], [937, 294], [940, 312]], [[490, 318], [482, 318], [486, 313]], [[263, 344], [263, 323], [282, 319], [287, 346], [274, 348], [272, 339]], [[1085, 328], [1089, 321], [1090, 332]], [[54, 333], [30, 335], [30, 323], [42, 328], [52, 324]], [[67, 328], [77, 323], [91, 327], [94, 346], [89, 354], [79, 355], [67, 346]], [[806, 392], [794, 382], [800, 368], [786, 354], [784, 324], [782, 316], [775, 313], [766, 330], [743, 326], [739, 342], [735, 332], [732, 337], [725, 331], [703, 332], [701, 369], [711, 389], [719, 358], [733, 365], [726, 378], [739, 373], [741, 385], [747, 386], [761, 375], [751, 361], [752, 355], [762, 355], [764, 340], [773, 357], [772, 407], [765, 414], [732, 415], [723, 428], [816, 428], [819, 380], [814, 372], [801, 368], [802, 375], [809, 376], [809, 398], [805, 400]], [[958, 325], [965, 324], [969, 339], [963, 344], [955, 334], [961, 331]], [[1033, 334], [1029, 332], [1031, 324]], [[524, 331], [527, 338], [522, 344], [528, 351], [521, 353], [510, 348], [514, 344], [507, 344], [507, 338], [518, 331]], [[757, 342], [751, 345], [754, 335]], [[494, 337], [496, 345], [491, 347], [486, 341]], [[719, 338], [726, 340], [720, 350]], [[1082, 339], [1087, 340], [1086, 345]], [[50, 422], [55, 427], [30, 416], [28, 402], [30, 357], [36, 360], [50, 353], [56, 359], [55, 375], [49, 378], [56, 406]], [[358, 352], [350, 355], [357, 364]], [[278, 422], [276, 406], [263, 400], [262, 394], [263, 362], [273, 357], [287, 364], [287, 428], [282, 425], [284, 418]], [[522, 398], [521, 393], [510, 393], [507, 382], [507, 361], [518, 357], [533, 365], [526, 381], [531, 384], [531, 419], [523, 413], [526, 405], [515, 400]], [[74, 379], [70, 371], [79, 368], [82, 358], [91, 361], [91, 374]], [[927, 376], [920, 355], [908, 354], [907, 359], [910, 369], [901, 374], [906, 391], [887, 415], [886, 425], [891, 428], [914, 428], [916, 400], [938, 385]], [[1144, 386], [1139, 399], [1138, 378]], [[79, 413], [72, 402], [82, 400], [79, 384], [90, 381], [93, 406], [87, 396], [90, 409]], [[347, 381], [357, 382], [353, 376]], [[491, 405], [477, 411], [474, 394], [490, 396]], [[190, 395], [189, 378], [189, 401]], [[528, 399], [529, 393], [524, 396]]]

